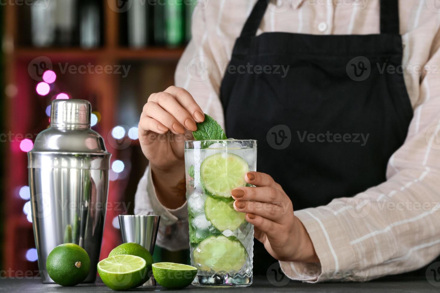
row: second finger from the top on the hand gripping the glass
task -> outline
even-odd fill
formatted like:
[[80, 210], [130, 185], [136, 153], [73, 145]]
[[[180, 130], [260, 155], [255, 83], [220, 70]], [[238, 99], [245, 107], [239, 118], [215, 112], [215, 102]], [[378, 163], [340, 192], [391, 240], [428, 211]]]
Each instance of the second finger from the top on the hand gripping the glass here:
[[236, 200], [254, 200], [262, 203], [273, 203], [281, 206], [284, 199], [284, 194], [270, 186], [260, 187], [239, 187], [232, 189], [232, 198]]

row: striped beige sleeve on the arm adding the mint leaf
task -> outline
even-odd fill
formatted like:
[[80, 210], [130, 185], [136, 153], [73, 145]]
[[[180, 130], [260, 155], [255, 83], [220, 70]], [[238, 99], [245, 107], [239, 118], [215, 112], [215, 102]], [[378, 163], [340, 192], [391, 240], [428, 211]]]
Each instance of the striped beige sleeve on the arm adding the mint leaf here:
[[[219, 54], [214, 58], [212, 48], [206, 41], [209, 28], [206, 28], [200, 5], [194, 9], [192, 22], [192, 40], [177, 65], [175, 85], [188, 90], [202, 110], [224, 127], [223, 108], [219, 99], [222, 74], [216, 66], [220, 64]], [[158, 246], [171, 251], [189, 248], [187, 204], [175, 210], [163, 206], [156, 195], [150, 167], [147, 167], [138, 184], [135, 214], [161, 216], [156, 240]]]

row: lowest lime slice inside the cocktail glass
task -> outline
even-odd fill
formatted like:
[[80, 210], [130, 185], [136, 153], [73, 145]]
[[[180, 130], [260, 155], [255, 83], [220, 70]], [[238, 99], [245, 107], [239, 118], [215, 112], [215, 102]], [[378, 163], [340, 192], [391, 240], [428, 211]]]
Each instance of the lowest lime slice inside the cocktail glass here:
[[235, 237], [220, 235], [203, 240], [193, 251], [195, 267], [203, 271], [238, 271], [248, 253]]

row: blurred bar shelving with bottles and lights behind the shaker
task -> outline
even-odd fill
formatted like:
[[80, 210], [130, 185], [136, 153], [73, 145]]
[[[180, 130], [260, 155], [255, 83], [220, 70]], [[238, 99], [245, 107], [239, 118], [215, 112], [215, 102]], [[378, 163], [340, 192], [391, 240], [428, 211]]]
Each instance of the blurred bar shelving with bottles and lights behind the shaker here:
[[[174, 83], [177, 62], [190, 39], [191, 13], [196, 0], [130, 0], [127, 10], [116, 9], [118, 0], [8, 1], [0, 6], [4, 20], [2, 133], [11, 134], [3, 143], [0, 190], [0, 274], [18, 271], [37, 274], [32, 224], [29, 222], [27, 151], [36, 134], [49, 125], [51, 101], [81, 98], [92, 103], [95, 123], [123, 170], [111, 171], [110, 203], [125, 203], [125, 210], [107, 210], [101, 259], [121, 243], [117, 215], [134, 213], [134, 194], [147, 160], [137, 139], [140, 112], [151, 93]], [[35, 7], [35, 4], [48, 4]], [[184, 3], [190, 5], [174, 5]], [[139, 6], [140, 5], [140, 6]], [[62, 70], [84, 65], [125, 68], [125, 72], [84, 73]], [[52, 71], [55, 81], [44, 80]], [[40, 83], [48, 92], [39, 90]], [[26, 136], [28, 135], [28, 136]], [[26, 144], [23, 141], [27, 141]], [[3, 160], [3, 158], [5, 158]], [[120, 165], [119, 165], [120, 166]], [[187, 251], [156, 248], [155, 261], [188, 262]]]

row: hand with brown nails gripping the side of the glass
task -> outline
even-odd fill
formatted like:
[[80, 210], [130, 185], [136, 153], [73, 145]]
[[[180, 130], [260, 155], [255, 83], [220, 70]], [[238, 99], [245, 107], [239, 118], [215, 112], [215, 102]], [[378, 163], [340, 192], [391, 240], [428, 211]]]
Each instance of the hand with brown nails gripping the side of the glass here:
[[256, 187], [231, 191], [234, 208], [246, 213], [255, 226], [254, 237], [277, 260], [319, 262], [304, 225], [293, 214], [292, 201], [268, 174], [248, 172], [245, 180]]

